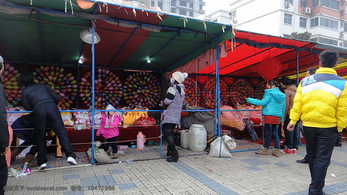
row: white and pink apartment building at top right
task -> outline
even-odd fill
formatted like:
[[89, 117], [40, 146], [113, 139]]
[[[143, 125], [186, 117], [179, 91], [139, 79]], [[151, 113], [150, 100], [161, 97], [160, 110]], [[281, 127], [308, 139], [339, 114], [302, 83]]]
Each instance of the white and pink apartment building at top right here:
[[308, 31], [313, 41], [347, 46], [346, 0], [231, 2], [230, 23], [236, 29], [284, 37]]

